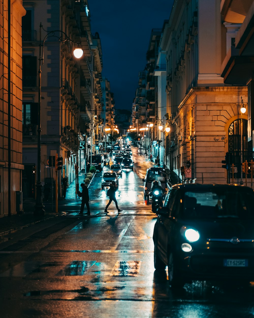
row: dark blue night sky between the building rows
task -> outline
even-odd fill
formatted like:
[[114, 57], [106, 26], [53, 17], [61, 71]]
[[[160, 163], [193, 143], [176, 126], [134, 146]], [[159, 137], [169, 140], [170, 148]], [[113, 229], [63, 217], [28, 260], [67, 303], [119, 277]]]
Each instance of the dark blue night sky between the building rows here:
[[152, 29], [168, 20], [173, 0], [89, 0], [91, 31], [99, 33], [103, 71], [116, 108], [131, 110], [138, 72], [146, 65]]

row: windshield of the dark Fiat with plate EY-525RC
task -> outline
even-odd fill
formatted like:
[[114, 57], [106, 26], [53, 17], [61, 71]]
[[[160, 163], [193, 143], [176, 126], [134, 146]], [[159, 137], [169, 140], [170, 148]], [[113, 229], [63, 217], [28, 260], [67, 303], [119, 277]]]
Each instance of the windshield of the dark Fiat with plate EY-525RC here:
[[183, 218], [254, 218], [254, 194], [237, 190], [185, 192]]

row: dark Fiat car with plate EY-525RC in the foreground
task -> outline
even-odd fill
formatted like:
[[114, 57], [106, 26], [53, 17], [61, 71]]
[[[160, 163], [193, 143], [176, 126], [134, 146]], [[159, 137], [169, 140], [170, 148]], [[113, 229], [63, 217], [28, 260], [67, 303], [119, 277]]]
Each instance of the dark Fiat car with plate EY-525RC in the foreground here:
[[254, 281], [254, 191], [222, 184], [173, 186], [157, 211], [154, 267], [172, 287], [191, 280]]

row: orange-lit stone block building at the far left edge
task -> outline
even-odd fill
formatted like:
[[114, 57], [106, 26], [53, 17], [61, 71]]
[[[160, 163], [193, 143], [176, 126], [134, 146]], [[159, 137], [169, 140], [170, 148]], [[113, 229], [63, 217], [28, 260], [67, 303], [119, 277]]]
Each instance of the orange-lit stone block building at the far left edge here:
[[21, 23], [26, 11], [21, 0], [10, 6], [0, 1], [0, 218], [22, 211]]

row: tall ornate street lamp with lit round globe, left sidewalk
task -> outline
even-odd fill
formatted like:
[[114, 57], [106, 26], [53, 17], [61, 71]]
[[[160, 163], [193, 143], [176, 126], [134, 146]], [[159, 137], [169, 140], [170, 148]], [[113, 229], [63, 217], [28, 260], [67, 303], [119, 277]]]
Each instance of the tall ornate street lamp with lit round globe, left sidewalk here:
[[[61, 30], [55, 30], [50, 31], [46, 34], [43, 41], [41, 38], [41, 29], [43, 29], [42, 24], [40, 23], [40, 45], [39, 45], [39, 70], [38, 70], [38, 136], [37, 136], [37, 182], [36, 182], [36, 204], [35, 204], [35, 210], [34, 215], [45, 215], [44, 205], [42, 202], [42, 183], [41, 183], [41, 62], [43, 64], [44, 61], [44, 44], [47, 38], [49, 37], [57, 37], [59, 41], [65, 42], [69, 40], [70, 42], [76, 43], [74, 41], [71, 41], [71, 39], [67, 36], [67, 34], [64, 31]], [[44, 30], [44, 29], [43, 29]], [[46, 30], [44, 30], [46, 31]], [[47, 32], [47, 31], [46, 31]], [[65, 39], [62, 39], [61, 37], [57, 36], [55, 33], [60, 32], [61, 34], [65, 35]], [[79, 44], [79, 43], [76, 43]], [[76, 58], [81, 58], [83, 55], [83, 50], [81, 48], [76, 48], [73, 51], [73, 54]], [[53, 190], [53, 189], [52, 189]]]

